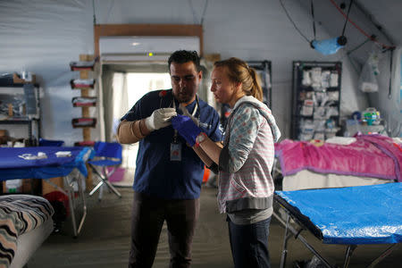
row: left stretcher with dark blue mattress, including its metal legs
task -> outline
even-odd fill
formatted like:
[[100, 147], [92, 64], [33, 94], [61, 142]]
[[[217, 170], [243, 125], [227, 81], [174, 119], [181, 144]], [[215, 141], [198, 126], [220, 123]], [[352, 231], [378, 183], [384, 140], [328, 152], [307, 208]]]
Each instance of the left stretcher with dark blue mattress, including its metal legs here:
[[[86, 161], [95, 155], [89, 147], [0, 147], [0, 181], [14, 179], [42, 179], [69, 197], [73, 236], [80, 233], [87, 215], [87, 205], [82, 188], [82, 176], [71, 176], [77, 169], [87, 177]], [[47, 180], [63, 177], [64, 188]], [[78, 184], [82, 215], [77, 227], [74, 185]]]

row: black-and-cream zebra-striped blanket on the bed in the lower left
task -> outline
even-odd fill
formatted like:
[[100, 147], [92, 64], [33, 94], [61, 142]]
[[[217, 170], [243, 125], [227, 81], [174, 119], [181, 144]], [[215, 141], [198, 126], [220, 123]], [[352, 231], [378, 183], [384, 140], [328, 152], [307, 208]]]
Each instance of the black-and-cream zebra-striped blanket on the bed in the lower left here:
[[7, 268], [17, 250], [18, 236], [34, 230], [54, 214], [43, 197], [0, 196], [0, 268]]

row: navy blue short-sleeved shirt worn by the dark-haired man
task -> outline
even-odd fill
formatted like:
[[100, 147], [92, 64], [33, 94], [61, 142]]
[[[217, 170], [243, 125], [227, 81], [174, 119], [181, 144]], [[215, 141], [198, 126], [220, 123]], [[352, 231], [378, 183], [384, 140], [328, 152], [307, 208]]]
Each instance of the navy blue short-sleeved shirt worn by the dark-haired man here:
[[[162, 96], [161, 91], [166, 95]], [[159, 108], [172, 107], [172, 89], [157, 90], [147, 93], [126, 113], [122, 120], [137, 121], [147, 118]], [[181, 114], [179, 103], [175, 101], [176, 112]], [[186, 108], [193, 113], [197, 101]], [[199, 107], [196, 118], [204, 123], [203, 131], [214, 141], [222, 140], [219, 115], [213, 107], [198, 98]], [[171, 161], [171, 143], [174, 130], [172, 125], [154, 130], [139, 141], [136, 172], [134, 175], [135, 191], [151, 197], [165, 199], [195, 199], [201, 191], [204, 175], [204, 163], [184, 138], [178, 135], [181, 143], [181, 161]]]

